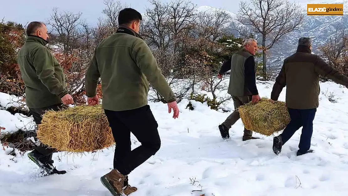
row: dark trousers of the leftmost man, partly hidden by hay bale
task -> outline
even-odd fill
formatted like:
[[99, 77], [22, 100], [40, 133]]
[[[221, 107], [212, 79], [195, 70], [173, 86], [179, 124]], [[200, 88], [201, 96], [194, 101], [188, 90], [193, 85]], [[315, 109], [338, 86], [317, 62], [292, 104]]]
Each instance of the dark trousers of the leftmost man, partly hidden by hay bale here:
[[[63, 108], [67, 108], [66, 105], [63, 104], [56, 104], [56, 105], [51, 105], [49, 107], [45, 108], [29, 108], [30, 113], [32, 114], [34, 121], [37, 125], [41, 124], [42, 120], [42, 115], [45, 113], [47, 110], [54, 110], [58, 111]], [[55, 148], [49, 148], [47, 145], [43, 144], [40, 142], [39, 146], [34, 148], [35, 152], [38, 152], [39, 154], [42, 154], [44, 156], [52, 158], [52, 154], [54, 152], [57, 152]]]

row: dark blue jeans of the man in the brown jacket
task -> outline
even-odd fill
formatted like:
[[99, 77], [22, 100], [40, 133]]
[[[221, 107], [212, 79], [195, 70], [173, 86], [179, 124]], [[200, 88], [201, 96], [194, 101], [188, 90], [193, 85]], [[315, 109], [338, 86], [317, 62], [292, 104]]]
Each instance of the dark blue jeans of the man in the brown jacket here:
[[310, 141], [313, 134], [313, 120], [317, 109], [291, 109], [288, 108], [291, 118], [290, 123], [285, 127], [282, 134], [283, 145], [291, 138], [291, 136], [302, 127], [302, 133], [299, 143], [299, 151], [306, 152], [310, 148]]

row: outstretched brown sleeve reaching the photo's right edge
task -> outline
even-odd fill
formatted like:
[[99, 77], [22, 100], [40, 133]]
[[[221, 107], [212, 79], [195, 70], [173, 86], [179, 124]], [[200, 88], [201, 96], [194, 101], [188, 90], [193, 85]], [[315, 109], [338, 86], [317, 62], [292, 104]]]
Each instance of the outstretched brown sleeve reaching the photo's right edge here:
[[329, 78], [338, 84], [348, 86], [348, 78], [337, 69], [328, 65], [322, 58], [317, 56], [316, 62], [314, 64], [314, 70], [318, 75]]

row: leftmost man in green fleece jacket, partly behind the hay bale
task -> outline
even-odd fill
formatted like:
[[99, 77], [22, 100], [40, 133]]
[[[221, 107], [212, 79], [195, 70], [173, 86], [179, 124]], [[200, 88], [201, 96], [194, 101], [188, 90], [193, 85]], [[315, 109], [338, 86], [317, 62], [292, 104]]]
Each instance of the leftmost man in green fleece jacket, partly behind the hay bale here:
[[[73, 99], [65, 88], [63, 69], [45, 47], [47, 27], [42, 22], [29, 23], [25, 44], [18, 52], [17, 61], [25, 85], [25, 101], [37, 125], [41, 124], [46, 110], [60, 110], [63, 104], [72, 104]], [[63, 104], [62, 104], [63, 103]], [[64, 106], [66, 107], [66, 106]], [[64, 174], [53, 166], [54, 148], [45, 144], [28, 154], [28, 157], [48, 174]]]

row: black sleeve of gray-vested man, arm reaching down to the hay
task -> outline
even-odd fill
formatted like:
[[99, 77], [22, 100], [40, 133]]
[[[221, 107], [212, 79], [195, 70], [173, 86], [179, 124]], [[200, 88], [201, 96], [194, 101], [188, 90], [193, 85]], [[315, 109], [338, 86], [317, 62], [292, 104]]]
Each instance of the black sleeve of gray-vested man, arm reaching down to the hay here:
[[258, 88], [256, 87], [256, 71], [255, 71], [255, 59], [254, 56], [250, 56], [244, 63], [244, 74], [246, 87], [251, 94], [258, 95]]

